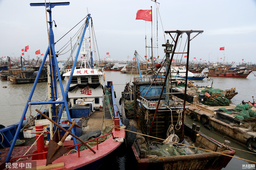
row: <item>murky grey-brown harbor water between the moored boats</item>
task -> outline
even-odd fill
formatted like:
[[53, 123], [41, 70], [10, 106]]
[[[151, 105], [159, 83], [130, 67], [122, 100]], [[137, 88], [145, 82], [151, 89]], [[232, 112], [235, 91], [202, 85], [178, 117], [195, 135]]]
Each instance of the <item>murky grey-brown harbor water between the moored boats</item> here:
[[[236, 92], [238, 94], [231, 99], [232, 104], [240, 104], [243, 100], [245, 102], [253, 100], [252, 96], [256, 97], [256, 71], [251, 73], [247, 78], [221, 78], [221, 77], [212, 77], [211, 80], [198, 80], [194, 81], [194, 85], [211, 85], [213, 88], [220, 88], [223, 90], [228, 90], [230, 88], [236, 88]], [[106, 71], [105, 72], [106, 80], [112, 81], [114, 85], [114, 89], [116, 91], [116, 102], [119, 103], [119, 99], [121, 97], [121, 92], [123, 91], [126, 83], [132, 83], [133, 78], [135, 75], [130, 74], [122, 74], [118, 71]], [[139, 75], [136, 75], [136, 77]], [[213, 83], [212, 83], [213, 82]], [[64, 87], [66, 86], [65, 80], [63, 81]], [[23, 84], [23, 85], [16, 85], [11, 84], [8, 81], [0, 80], [0, 124], [4, 126], [9, 126], [13, 123], [20, 121], [20, 117], [23, 113], [25, 108], [25, 104], [27, 102], [28, 96], [32, 89], [33, 84]], [[58, 84], [59, 87], [59, 84]], [[61, 93], [58, 90], [58, 93]], [[36, 90], [32, 97], [32, 102], [44, 101], [47, 96], [47, 83], [38, 83]], [[35, 110], [38, 106], [31, 106], [27, 110], [26, 117], [30, 114], [34, 115]], [[44, 110], [46, 106], [43, 106], [41, 110]], [[119, 109], [121, 107], [119, 106]], [[121, 110], [120, 110], [121, 111]], [[225, 136], [220, 136], [211, 132], [209, 129], [204, 128], [200, 122], [193, 122], [192, 119], [186, 117], [185, 121], [187, 121], [190, 125], [192, 123], [196, 123], [197, 125], [201, 126], [201, 132], [210, 136], [211, 138], [223, 143], [226, 140]], [[236, 148], [235, 157], [239, 157], [245, 160], [256, 161], [256, 154], [247, 153], [248, 151], [245, 147], [240, 146], [231, 141], [231, 147]], [[243, 151], [245, 150], [245, 151]], [[111, 159], [113, 163], [113, 159]], [[128, 150], [127, 154], [119, 155], [115, 157], [115, 161], [112, 164], [110, 162], [106, 163], [106, 165], [111, 166], [112, 170], [136, 170], [136, 161], [133, 157], [131, 150]], [[243, 166], [248, 164], [254, 164], [249, 161], [239, 160], [232, 158], [229, 162], [228, 166], [223, 170], [242, 170]], [[114, 165], [114, 166], [113, 166]], [[256, 166], [256, 165], [255, 165]], [[106, 167], [104, 167], [106, 169]], [[103, 170], [103, 167], [102, 167]]]

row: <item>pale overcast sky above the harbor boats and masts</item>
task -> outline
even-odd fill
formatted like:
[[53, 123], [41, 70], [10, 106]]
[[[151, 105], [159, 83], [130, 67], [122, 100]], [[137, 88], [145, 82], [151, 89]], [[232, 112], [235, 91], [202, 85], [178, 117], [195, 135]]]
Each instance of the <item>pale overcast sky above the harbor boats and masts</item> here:
[[[31, 2], [43, 0], [0, 0], [0, 57], [18, 57], [21, 49], [29, 45], [28, 54], [37, 58], [35, 52], [45, 53], [48, 38], [44, 7], [30, 7]], [[46, 1], [47, 2], [47, 1]], [[60, 2], [55, 0], [51, 2]], [[203, 30], [191, 41], [190, 60], [225, 61], [236, 64], [256, 63], [256, 0], [158, 0], [158, 55], [164, 58], [162, 44], [171, 37], [164, 31]], [[52, 9], [55, 41], [84, 18], [89, 11], [100, 52], [106, 52], [115, 60], [133, 58], [137, 50], [145, 56], [151, 45], [151, 22], [136, 20], [139, 9], [153, 10], [153, 46], [156, 47], [156, 5], [151, 0], [72, 0], [69, 6]], [[161, 19], [160, 19], [160, 17]], [[146, 29], [146, 31], [145, 31]], [[70, 39], [71, 34], [68, 34]], [[165, 37], [164, 37], [165, 35]], [[193, 37], [195, 33], [191, 36]], [[186, 41], [186, 35], [181, 40]], [[56, 45], [57, 48], [63, 44]], [[220, 47], [225, 47], [220, 51]], [[183, 51], [183, 49], [180, 49]], [[26, 55], [26, 54], [25, 54]], [[147, 50], [148, 55], [148, 50]], [[154, 57], [157, 50], [154, 50]], [[59, 59], [67, 59], [69, 54]], [[220, 59], [222, 58], [222, 59]], [[201, 61], [202, 61], [201, 60]]]

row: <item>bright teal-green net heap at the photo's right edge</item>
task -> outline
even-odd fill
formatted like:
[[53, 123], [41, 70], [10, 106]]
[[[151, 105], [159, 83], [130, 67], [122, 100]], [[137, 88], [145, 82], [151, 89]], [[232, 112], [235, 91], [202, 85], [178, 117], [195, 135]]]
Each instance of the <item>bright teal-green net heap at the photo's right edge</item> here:
[[238, 104], [233, 110], [239, 112], [235, 118], [239, 120], [249, 119], [256, 116], [256, 110], [251, 110], [253, 106], [250, 104]]

